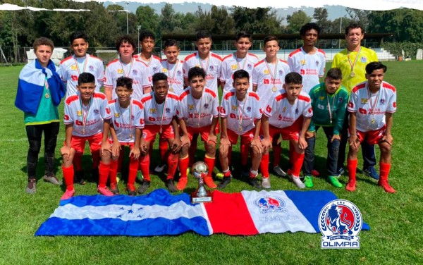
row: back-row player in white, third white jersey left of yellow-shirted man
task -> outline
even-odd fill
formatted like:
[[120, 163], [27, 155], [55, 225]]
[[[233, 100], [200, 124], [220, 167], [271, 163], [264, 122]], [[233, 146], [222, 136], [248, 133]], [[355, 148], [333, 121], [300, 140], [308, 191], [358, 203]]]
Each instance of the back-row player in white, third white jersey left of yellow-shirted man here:
[[250, 54], [248, 49], [252, 45], [251, 35], [245, 31], [238, 32], [235, 37], [236, 51], [223, 58], [221, 66], [221, 87], [223, 87], [223, 94], [233, 89], [233, 73], [236, 70], [246, 70], [250, 75], [249, 91], [252, 91], [252, 69], [259, 61], [255, 54]]

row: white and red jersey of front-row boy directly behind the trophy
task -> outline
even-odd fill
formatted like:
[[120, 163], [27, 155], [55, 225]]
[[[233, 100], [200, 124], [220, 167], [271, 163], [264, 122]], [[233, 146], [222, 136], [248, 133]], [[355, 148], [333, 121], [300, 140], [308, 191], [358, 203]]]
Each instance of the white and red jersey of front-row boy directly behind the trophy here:
[[219, 117], [219, 97], [204, 87], [201, 98], [195, 99], [191, 90], [191, 87], [187, 87], [180, 94], [178, 118], [183, 119], [187, 127], [201, 128], [211, 125], [212, 119]]

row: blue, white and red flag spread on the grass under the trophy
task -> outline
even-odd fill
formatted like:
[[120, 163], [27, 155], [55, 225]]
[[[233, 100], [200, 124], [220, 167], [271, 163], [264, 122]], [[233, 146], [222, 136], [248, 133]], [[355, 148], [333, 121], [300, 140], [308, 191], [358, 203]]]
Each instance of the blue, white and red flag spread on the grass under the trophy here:
[[189, 195], [163, 189], [139, 197], [77, 196], [62, 201], [35, 235], [319, 233], [319, 212], [333, 199], [329, 191], [215, 190], [212, 203], [191, 204]]

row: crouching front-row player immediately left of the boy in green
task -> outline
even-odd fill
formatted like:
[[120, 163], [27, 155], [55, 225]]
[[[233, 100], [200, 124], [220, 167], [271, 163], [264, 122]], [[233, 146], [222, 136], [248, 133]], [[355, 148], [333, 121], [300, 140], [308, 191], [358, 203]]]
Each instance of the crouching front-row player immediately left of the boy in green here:
[[274, 95], [263, 110], [264, 151], [260, 163], [263, 187], [270, 186], [268, 164], [271, 138], [280, 133], [283, 140], [289, 140], [295, 147], [295, 152], [290, 154], [290, 161], [293, 164], [291, 179], [300, 189], [305, 188], [300, 180], [300, 171], [304, 151], [307, 148], [305, 133], [309, 128], [313, 109], [309, 95], [301, 91], [301, 81], [302, 77], [299, 73], [288, 73], [283, 84], [284, 90]]

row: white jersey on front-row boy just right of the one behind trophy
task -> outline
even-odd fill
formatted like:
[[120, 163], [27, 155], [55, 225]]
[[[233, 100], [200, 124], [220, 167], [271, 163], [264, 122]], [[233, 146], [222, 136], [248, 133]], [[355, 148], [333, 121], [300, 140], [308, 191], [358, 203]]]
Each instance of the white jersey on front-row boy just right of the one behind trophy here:
[[229, 90], [223, 97], [220, 108], [221, 118], [227, 118], [229, 130], [243, 135], [255, 128], [255, 121], [262, 118], [260, 98], [256, 92], [247, 92], [243, 101], [238, 101], [235, 89]]

